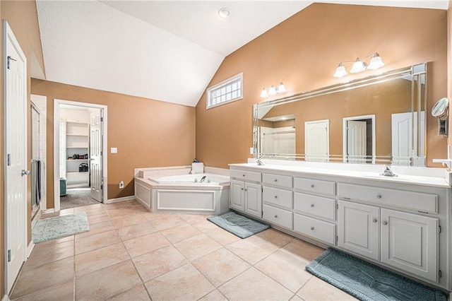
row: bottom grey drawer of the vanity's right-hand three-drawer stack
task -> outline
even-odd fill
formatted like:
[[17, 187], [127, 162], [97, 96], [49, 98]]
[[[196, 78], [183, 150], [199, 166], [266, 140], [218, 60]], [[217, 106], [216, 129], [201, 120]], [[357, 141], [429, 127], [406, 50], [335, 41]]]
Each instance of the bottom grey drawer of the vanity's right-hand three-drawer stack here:
[[335, 244], [335, 225], [332, 223], [295, 213], [294, 230], [327, 244]]

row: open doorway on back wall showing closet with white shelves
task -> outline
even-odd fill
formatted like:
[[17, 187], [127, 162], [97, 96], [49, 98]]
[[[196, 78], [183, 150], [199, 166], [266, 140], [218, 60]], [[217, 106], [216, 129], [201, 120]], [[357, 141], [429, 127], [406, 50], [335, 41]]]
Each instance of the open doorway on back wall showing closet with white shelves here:
[[106, 131], [106, 106], [55, 100], [55, 211], [107, 200]]

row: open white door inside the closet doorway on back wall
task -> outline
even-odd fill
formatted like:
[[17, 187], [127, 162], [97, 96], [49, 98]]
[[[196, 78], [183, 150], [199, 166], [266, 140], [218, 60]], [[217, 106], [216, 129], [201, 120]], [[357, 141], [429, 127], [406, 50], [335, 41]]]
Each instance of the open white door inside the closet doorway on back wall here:
[[102, 202], [102, 110], [91, 113], [90, 172], [91, 197]]

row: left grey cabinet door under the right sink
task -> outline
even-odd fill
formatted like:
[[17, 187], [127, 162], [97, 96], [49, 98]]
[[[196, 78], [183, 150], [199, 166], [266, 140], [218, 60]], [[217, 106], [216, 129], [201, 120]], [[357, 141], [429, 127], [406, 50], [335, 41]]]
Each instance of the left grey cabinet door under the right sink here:
[[380, 208], [338, 201], [338, 246], [379, 260]]

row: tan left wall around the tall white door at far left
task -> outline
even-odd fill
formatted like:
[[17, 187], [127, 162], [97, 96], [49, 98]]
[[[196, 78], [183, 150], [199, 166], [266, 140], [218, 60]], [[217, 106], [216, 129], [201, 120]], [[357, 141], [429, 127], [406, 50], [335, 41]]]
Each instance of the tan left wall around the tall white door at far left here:
[[[8, 21], [9, 26], [13, 30], [16, 39], [18, 40], [20, 47], [22, 48], [25, 57], [27, 57], [27, 99], [28, 105], [30, 107], [30, 61], [31, 53], [35, 52], [38, 62], [40, 63], [41, 69], [44, 69], [44, 59], [42, 58], [42, 47], [40, 40], [40, 30], [37, 23], [37, 11], [35, 1], [1, 1], [0, 2], [0, 13], [2, 23], [1, 28], [1, 41], [4, 40], [4, 25], [3, 20]], [[3, 58], [3, 47], [0, 47], [0, 57]], [[3, 59], [0, 62], [0, 68], [3, 70]], [[1, 85], [0, 85], [0, 132], [4, 132], [4, 93], [3, 93], [3, 72], [0, 75]], [[28, 120], [30, 120], [30, 111], [28, 110]], [[30, 141], [30, 126], [28, 129], [28, 141]], [[0, 155], [2, 160], [0, 160], [0, 208], [4, 208], [4, 139], [1, 139]], [[30, 148], [28, 149], [28, 155], [30, 156]], [[30, 158], [30, 157], [29, 157]], [[28, 165], [28, 170], [30, 170], [30, 163]], [[28, 183], [28, 242], [31, 240], [31, 189], [30, 181]], [[2, 211], [3, 212], [3, 211]], [[5, 293], [4, 287], [4, 215], [0, 215], [0, 295], [3, 296]]]

